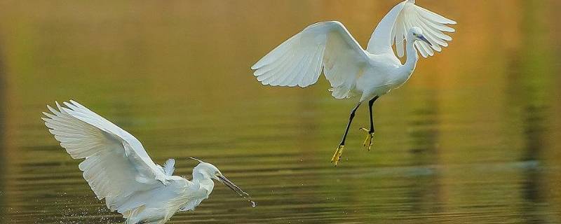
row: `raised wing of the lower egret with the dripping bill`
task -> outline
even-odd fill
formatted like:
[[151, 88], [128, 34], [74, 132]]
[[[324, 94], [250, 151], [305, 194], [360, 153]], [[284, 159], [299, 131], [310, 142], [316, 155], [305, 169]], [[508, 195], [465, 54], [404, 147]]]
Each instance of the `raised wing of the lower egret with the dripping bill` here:
[[44, 113], [45, 125], [72, 158], [86, 159], [79, 165], [83, 178], [111, 211], [130, 209], [135, 193], [166, 183], [168, 176], [133, 135], [78, 102], [64, 104], [47, 106], [52, 114]]

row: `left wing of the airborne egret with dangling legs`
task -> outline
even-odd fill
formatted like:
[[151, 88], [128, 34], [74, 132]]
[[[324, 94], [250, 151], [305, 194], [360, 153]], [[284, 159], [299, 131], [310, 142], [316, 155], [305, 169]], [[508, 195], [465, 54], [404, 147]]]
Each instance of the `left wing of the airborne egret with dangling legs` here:
[[318, 22], [278, 45], [251, 69], [263, 85], [306, 87], [318, 81], [323, 68], [332, 95], [344, 98], [368, 59], [341, 22]]

